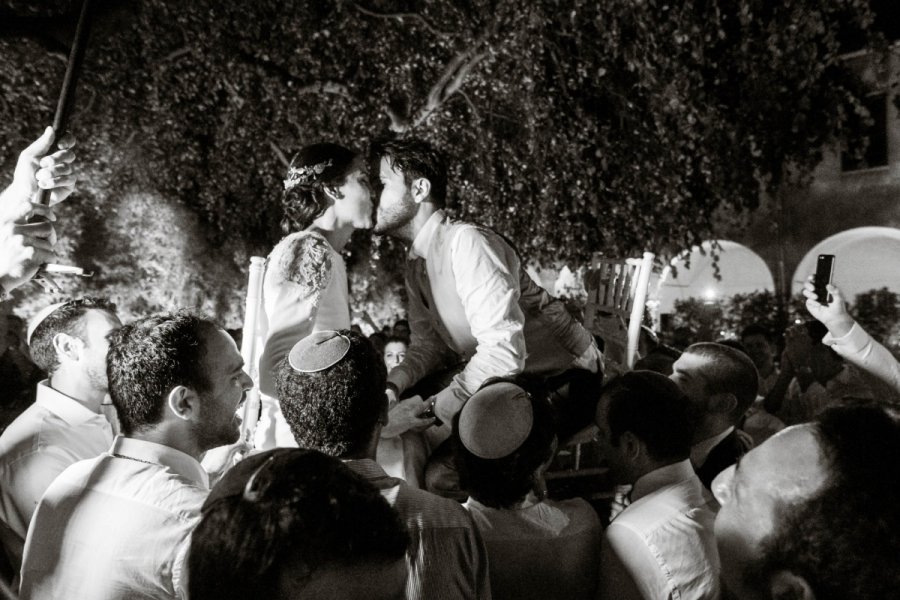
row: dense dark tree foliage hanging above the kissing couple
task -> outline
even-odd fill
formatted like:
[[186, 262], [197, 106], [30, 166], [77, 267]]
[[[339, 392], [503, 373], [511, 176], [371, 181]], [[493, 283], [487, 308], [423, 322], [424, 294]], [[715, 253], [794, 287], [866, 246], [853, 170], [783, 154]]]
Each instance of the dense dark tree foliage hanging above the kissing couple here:
[[[66, 231], [71, 257], [116, 273], [85, 289], [127, 294], [126, 249], [107, 235], [127, 221], [104, 222], [117, 199], [181, 206], [191, 249], [220, 263], [185, 277], [230, 295], [246, 256], [278, 239], [290, 154], [385, 131], [445, 149], [456, 212], [531, 259], [691, 247], [865, 118], [837, 32], [870, 21], [866, 0], [106, 3], [74, 121], [85, 183], [71, 213], [96, 229]], [[61, 58], [41, 34], [0, 39], [4, 173], [50, 120]], [[181, 233], [159, 237], [161, 255]], [[360, 235], [350, 258], [358, 301], [401, 293], [398, 244]], [[163, 275], [140, 275], [147, 309], [180, 293]]]

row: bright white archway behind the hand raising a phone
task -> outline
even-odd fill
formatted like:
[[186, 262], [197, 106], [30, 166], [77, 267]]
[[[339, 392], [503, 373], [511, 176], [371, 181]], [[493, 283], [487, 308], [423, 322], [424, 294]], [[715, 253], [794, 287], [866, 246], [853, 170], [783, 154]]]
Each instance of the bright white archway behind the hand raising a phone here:
[[799, 294], [815, 272], [820, 254], [835, 255], [832, 281], [850, 302], [857, 294], [883, 287], [900, 293], [900, 229], [858, 227], [822, 240], [797, 265], [791, 279], [793, 294]]

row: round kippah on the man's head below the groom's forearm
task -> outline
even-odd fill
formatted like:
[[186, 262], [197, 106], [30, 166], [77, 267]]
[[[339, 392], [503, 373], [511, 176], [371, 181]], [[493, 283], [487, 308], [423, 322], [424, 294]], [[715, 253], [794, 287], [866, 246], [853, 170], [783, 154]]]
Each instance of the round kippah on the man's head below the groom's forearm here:
[[512, 383], [495, 383], [475, 392], [463, 405], [459, 439], [479, 458], [503, 458], [525, 443], [533, 422], [528, 392]]

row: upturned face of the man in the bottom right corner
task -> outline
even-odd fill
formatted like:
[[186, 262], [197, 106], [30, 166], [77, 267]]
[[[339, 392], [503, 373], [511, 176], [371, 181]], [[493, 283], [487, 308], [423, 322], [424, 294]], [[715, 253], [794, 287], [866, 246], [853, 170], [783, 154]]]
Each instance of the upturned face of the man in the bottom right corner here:
[[761, 560], [761, 544], [775, 532], [778, 511], [791, 510], [826, 479], [826, 463], [809, 424], [777, 433], [715, 478], [712, 491], [722, 505], [715, 527], [722, 579], [738, 599], [763, 597], [744, 573]]

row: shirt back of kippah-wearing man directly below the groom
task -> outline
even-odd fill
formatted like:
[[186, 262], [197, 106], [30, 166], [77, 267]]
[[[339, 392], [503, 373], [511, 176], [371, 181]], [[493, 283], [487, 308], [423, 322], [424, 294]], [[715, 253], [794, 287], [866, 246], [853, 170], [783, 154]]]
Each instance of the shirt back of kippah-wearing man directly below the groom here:
[[575, 498], [497, 509], [469, 498], [464, 506], [487, 546], [494, 597], [595, 597], [603, 530], [590, 504]]

